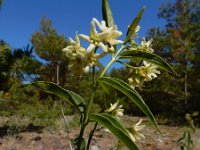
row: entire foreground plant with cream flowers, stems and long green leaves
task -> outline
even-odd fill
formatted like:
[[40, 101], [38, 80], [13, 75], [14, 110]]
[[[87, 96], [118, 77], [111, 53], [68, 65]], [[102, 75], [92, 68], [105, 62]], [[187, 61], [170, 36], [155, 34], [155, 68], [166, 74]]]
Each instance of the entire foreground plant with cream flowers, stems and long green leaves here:
[[[102, 0], [103, 21], [99, 22], [93, 18], [90, 34], [84, 35], [77, 33], [75, 39], [70, 38], [69, 45], [63, 49], [70, 60], [70, 69], [77, 71], [78, 75], [84, 72], [92, 72], [93, 86], [91, 87], [92, 93], [88, 99], [88, 103], [80, 95], [73, 91], [63, 89], [55, 83], [42, 81], [32, 83], [32, 85], [41, 88], [45, 92], [55, 94], [62, 100], [66, 100], [79, 111], [80, 133], [73, 140], [73, 149], [89, 150], [97, 124], [107, 128], [109, 132], [131, 150], [137, 150], [138, 147], [135, 141], [144, 138], [138, 132], [144, 127], [144, 125], [140, 125], [141, 120], [128, 129], [120, 123], [119, 117], [123, 116], [124, 109], [122, 105], [119, 105], [119, 101], [117, 100], [116, 103], [111, 104], [111, 107], [104, 111], [99, 113], [91, 112], [96, 91], [100, 86], [103, 87], [107, 94], [111, 94], [108, 91], [110, 88], [114, 88], [127, 96], [131, 102], [144, 112], [150, 122], [159, 131], [153, 114], [135, 88], [142, 88], [144, 82], [156, 78], [157, 74], [160, 74], [160, 71], [157, 70], [158, 68], [173, 74], [176, 73], [166, 61], [153, 53], [154, 50], [151, 48], [152, 40], [146, 41], [142, 39], [140, 44], [135, 41], [138, 38], [137, 32], [140, 29], [138, 23], [144, 9], [142, 8], [131, 25], [129, 25], [126, 38], [122, 41], [117, 39], [122, 35], [122, 32], [118, 30], [117, 25], [114, 23], [108, 0]], [[87, 48], [82, 47], [80, 39], [88, 42], [89, 46]], [[111, 54], [112, 57], [110, 62], [104, 67], [100, 59], [108, 54]], [[130, 65], [130, 60], [136, 62], [135, 66]], [[121, 63], [130, 69], [128, 83], [117, 78], [105, 76], [106, 71], [113, 63]], [[101, 72], [98, 77], [95, 75], [97, 68]], [[95, 122], [95, 126], [91, 130], [88, 139], [85, 139], [85, 129], [91, 122]]]

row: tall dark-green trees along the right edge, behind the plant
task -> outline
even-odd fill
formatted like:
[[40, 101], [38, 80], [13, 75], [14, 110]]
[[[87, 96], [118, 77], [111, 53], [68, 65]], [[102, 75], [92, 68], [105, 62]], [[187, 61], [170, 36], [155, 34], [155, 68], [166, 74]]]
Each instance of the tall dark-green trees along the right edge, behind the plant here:
[[[199, 38], [200, 5], [195, 0], [177, 0], [162, 5], [159, 17], [167, 21], [163, 30], [151, 28], [147, 35], [154, 38], [153, 49], [178, 72], [178, 78], [163, 74], [159, 80], [144, 88], [143, 95], [153, 112], [183, 122], [185, 113], [200, 111], [199, 107]], [[166, 82], [168, 80], [168, 82]], [[151, 86], [153, 88], [148, 89]], [[151, 95], [151, 97], [149, 96]], [[161, 98], [162, 101], [158, 98]], [[148, 102], [149, 101], [149, 102]], [[154, 105], [155, 104], [155, 105]], [[158, 110], [167, 107], [168, 112]], [[173, 111], [173, 114], [170, 112]], [[169, 114], [169, 115], [167, 115]], [[176, 115], [174, 115], [176, 114]], [[179, 119], [177, 119], [179, 118]], [[182, 118], [182, 121], [180, 121]], [[179, 120], [179, 121], [178, 121]]]

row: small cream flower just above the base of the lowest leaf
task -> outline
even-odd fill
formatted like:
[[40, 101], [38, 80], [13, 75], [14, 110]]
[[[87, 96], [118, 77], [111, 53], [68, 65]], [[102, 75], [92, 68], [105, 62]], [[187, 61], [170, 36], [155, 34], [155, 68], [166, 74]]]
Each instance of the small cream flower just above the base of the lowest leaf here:
[[119, 101], [117, 101], [114, 104], [110, 104], [110, 108], [106, 109], [105, 112], [111, 113], [112, 115], [114, 115], [117, 119], [119, 119], [119, 117], [124, 115], [124, 109], [122, 109], [122, 105], [118, 105]]

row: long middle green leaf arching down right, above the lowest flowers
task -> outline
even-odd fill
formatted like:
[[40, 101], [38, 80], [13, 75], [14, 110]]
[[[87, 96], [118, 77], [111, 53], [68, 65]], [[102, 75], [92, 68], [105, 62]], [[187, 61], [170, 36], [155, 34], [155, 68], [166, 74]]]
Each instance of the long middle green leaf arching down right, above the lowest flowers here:
[[117, 78], [110, 77], [99, 78], [97, 82], [111, 86], [116, 90], [122, 92], [124, 95], [126, 95], [133, 103], [135, 103], [142, 110], [143, 113], [146, 114], [146, 116], [150, 119], [155, 128], [160, 132], [157, 122], [153, 114], [151, 113], [149, 107], [145, 104], [140, 94], [136, 90], [132, 89], [126, 82]]

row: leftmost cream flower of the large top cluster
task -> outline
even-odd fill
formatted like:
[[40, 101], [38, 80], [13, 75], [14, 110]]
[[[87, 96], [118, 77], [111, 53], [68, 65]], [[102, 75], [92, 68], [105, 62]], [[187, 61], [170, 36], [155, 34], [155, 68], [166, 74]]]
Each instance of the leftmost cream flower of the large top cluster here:
[[69, 38], [69, 45], [63, 51], [70, 60], [83, 59], [86, 53], [86, 49], [81, 47], [78, 35], [76, 35], [75, 41]]

